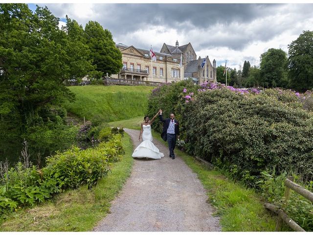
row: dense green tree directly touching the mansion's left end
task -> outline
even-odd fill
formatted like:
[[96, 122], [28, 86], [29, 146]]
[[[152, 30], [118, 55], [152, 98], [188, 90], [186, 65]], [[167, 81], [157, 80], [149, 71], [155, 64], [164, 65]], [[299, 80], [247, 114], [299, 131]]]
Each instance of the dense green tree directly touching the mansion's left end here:
[[122, 53], [115, 46], [111, 32], [99, 23], [89, 21], [85, 33], [96, 70], [109, 75], [118, 73], [122, 68]]

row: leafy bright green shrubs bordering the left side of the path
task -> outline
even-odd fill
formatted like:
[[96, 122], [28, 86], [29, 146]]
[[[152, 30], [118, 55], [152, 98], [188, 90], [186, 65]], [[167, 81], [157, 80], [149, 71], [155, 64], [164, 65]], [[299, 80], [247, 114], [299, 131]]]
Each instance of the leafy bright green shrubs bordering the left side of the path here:
[[46, 166], [41, 169], [18, 162], [15, 167], [1, 172], [0, 212], [17, 210], [18, 206], [33, 206], [55, 193], [82, 184], [91, 188], [108, 174], [110, 164], [117, 162], [123, 154], [121, 135], [117, 134], [95, 148], [72, 147], [58, 152], [47, 158]]

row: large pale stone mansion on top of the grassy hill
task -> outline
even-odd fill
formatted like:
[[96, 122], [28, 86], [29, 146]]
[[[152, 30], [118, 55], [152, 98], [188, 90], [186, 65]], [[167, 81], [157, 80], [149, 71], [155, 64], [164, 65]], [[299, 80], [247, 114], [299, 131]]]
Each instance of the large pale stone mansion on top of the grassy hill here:
[[[150, 50], [120, 43], [116, 47], [122, 53], [123, 68], [118, 74], [112, 74], [113, 78], [154, 82], [172, 82], [191, 78], [198, 84], [204, 81], [216, 82], [216, 61], [213, 60], [211, 63], [209, 57], [206, 56], [205, 68], [205, 64], [202, 65], [205, 58], [201, 59], [199, 56], [197, 59], [191, 43], [180, 47], [178, 41], [175, 47], [164, 43], [160, 52], [154, 51], [156, 61], [153, 61], [152, 65]], [[182, 66], [180, 67], [181, 57]]]

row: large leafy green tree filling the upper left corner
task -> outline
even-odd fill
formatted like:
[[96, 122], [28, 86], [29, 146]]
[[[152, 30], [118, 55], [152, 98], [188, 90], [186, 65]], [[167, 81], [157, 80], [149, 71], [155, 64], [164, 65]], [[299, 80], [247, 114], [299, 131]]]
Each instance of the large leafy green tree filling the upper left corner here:
[[0, 156], [45, 125], [51, 105], [73, 99], [67, 79], [93, 70], [88, 47], [58, 25], [46, 7], [0, 4]]

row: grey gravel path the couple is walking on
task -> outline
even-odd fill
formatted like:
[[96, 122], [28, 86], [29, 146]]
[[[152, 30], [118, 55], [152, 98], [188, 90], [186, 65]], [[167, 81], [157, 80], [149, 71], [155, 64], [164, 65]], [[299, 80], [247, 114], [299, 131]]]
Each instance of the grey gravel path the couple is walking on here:
[[[139, 131], [124, 130], [135, 148]], [[153, 142], [164, 158], [134, 159], [132, 174], [112, 201], [111, 213], [93, 231], [221, 231], [197, 175], [178, 155], [171, 159], [164, 142]]]

